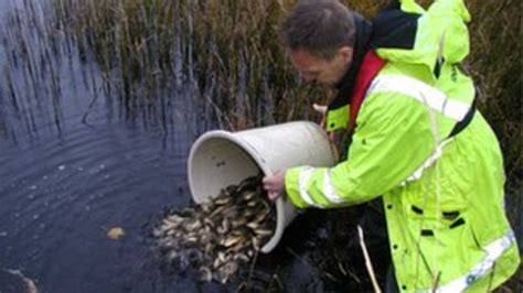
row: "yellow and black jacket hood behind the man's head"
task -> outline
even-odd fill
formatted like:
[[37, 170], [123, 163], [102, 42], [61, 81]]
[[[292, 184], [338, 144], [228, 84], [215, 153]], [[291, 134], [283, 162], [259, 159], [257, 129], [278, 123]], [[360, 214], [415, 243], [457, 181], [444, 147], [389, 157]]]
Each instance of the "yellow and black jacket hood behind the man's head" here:
[[463, 0], [435, 1], [427, 11], [414, 0], [392, 1], [373, 20], [372, 47], [384, 59], [423, 64], [437, 75], [441, 62], [469, 54], [469, 21]]

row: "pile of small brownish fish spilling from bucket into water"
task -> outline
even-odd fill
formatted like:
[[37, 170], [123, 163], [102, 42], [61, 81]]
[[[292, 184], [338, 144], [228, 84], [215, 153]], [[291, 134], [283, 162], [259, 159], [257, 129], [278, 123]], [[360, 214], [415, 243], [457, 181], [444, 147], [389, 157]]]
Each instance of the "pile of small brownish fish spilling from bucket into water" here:
[[260, 176], [230, 185], [210, 203], [170, 210], [153, 236], [164, 259], [202, 281], [226, 283], [253, 260], [276, 228]]

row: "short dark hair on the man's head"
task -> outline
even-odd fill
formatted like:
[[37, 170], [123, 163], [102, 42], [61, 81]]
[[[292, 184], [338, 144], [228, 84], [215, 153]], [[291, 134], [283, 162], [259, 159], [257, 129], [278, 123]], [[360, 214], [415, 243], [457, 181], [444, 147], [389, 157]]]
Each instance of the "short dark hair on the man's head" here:
[[300, 1], [280, 26], [279, 39], [291, 51], [331, 59], [340, 47], [354, 46], [355, 30], [353, 13], [339, 1]]

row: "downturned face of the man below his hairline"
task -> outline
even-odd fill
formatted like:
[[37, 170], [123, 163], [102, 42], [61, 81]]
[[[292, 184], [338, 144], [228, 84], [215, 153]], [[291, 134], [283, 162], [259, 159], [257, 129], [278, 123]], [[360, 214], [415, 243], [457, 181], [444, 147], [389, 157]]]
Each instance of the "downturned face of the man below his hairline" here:
[[298, 48], [290, 52], [290, 59], [305, 82], [333, 87], [351, 66], [352, 48], [339, 48], [331, 59], [320, 58], [305, 48]]

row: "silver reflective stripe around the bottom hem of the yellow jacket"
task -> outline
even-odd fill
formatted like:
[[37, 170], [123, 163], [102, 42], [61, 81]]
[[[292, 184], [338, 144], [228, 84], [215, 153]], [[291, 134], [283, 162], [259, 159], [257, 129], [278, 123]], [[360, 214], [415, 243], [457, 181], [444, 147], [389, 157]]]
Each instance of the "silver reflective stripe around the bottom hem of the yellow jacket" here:
[[463, 276], [451, 281], [450, 283], [437, 287], [436, 291], [427, 290], [427, 292], [462, 292], [468, 286], [473, 284], [479, 279], [487, 275], [489, 270], [492, 269], [497, 259], [503, 254], [512, 245], [515, 243], [514, 231], [509, 230], [503, 237], [492, 241], [490, 245], [483, 248], [487, 256], [478, 262], [472, 270], [467, 272]]

